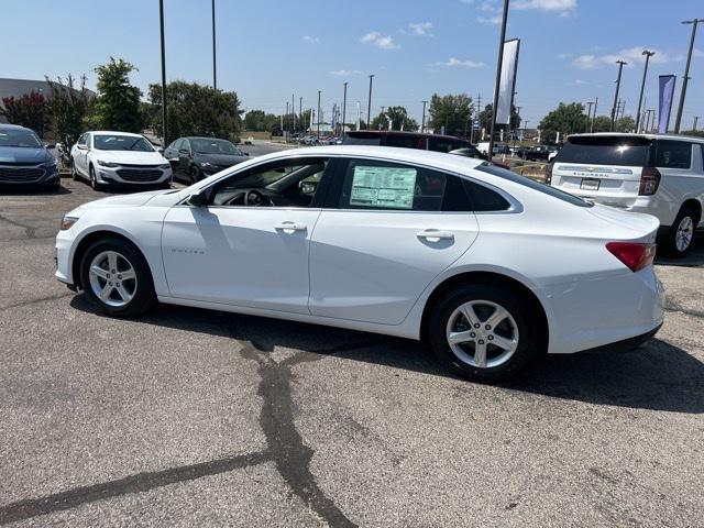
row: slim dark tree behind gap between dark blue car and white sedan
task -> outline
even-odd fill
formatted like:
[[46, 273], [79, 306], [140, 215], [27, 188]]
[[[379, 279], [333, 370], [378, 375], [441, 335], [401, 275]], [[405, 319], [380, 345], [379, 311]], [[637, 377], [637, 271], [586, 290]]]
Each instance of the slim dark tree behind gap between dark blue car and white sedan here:
[[92, 100], [86, 89], [86, 76], [80, 78], [79, 88], [76, 88], [70, 74], [66, 84], [61, 77], [56, 81], [46, 77], [46, 81], [50, 86], [48, 111], [52, 117], [52, 131], [56, 140], [70, 146], [88, 125]]

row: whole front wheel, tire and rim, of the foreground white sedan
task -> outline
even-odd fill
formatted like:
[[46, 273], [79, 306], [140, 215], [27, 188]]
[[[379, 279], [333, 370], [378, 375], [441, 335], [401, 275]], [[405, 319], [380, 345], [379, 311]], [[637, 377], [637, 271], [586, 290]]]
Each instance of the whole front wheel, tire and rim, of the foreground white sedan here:
[[113, 317], [135, 317], [156, 304], [152, 274], [132, 244], [108, 239], [91, 245], [82, 256], [81, 285], [98, 311]]

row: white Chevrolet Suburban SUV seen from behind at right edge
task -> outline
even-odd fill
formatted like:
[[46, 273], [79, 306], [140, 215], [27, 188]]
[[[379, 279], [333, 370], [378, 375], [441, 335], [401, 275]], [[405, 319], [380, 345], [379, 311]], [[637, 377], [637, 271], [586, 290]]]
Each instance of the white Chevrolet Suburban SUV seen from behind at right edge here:
[[658, 217], [661, 248], [682, 256], [702, 222], [704, 139], [571, 135], [549, 165], [547, 182], [598, 204]]

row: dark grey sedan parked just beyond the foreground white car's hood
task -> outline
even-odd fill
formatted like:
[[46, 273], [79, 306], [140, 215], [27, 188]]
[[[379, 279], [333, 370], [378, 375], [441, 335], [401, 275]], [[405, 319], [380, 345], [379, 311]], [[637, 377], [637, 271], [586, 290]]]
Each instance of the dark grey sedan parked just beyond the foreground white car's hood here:
[[231, 142], [215, 138], [179, 138], [164, 151], [174, 177], [191, 184], [242, 163], [248, 156]]

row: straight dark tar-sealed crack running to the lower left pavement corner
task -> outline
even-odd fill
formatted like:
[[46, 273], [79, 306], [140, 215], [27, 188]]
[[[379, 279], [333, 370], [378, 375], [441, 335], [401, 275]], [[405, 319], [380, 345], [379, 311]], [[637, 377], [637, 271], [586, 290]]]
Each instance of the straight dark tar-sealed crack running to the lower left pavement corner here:
[[70, 509], [82, 504], [118, 497], [128, 493], [148, 492], [169, 484], [218, 475], [232, 470], [257, 465], [270, 460], [271, 455], [266, 451], [242, 454], [180, 468], [170, 468], [164, 471], [138, 473], [117, 481], [75, 487], [45, 497], [18, 501], [0, 507], [0, 525]]

